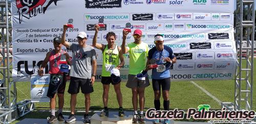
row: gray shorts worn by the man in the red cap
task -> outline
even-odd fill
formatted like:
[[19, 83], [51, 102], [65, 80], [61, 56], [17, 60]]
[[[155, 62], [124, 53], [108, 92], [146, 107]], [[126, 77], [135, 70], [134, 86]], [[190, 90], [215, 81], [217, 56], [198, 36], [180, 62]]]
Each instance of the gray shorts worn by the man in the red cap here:
[[150, 80], [146, 77], [145, 81], [138, 80], [136, 75], [128, 75], [128, 81], [126, 83], [126, 87], [128, 88], [135, 88], [135, 87], [147, 87], [150, 86]]

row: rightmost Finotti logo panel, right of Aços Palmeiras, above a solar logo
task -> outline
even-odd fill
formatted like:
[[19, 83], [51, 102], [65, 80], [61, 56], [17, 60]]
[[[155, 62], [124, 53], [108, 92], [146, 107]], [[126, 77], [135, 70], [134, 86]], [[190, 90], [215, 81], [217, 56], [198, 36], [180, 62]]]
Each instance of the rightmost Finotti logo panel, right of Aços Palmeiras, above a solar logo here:
[[236, 54], [233, 52], [215, 52], [215, 59], [216, 60], [235, 60], [236, 59]]

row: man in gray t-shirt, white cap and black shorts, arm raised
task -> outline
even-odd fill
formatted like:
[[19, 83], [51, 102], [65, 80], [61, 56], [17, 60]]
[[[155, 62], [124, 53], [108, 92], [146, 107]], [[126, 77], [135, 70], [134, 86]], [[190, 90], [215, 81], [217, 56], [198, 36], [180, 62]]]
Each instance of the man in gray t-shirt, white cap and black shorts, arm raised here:
[[70, 106], [71, 115], [66, 123], [76, 120], [75, 107], [76, 95], [80, 90], [86, 97], [86, 113], [84, 114], [84, 123], [90, 123], [88, 116], [90, 108], [90, 93], [93, 92], [93, 84], [95, 82], [95, 75], [97, 69], [96, 52], [94, 47], [87, 45], [87, 34], [79, 32], [77, 35], [78, 44], [69, 43], [66, 41], [67, 24], [63, 26], [63, 33], [61, 37], [61, 44], [65, 45], [72, 51], [72, 61], [70, 69], [70, 85], [68, 92], [71, 94]]

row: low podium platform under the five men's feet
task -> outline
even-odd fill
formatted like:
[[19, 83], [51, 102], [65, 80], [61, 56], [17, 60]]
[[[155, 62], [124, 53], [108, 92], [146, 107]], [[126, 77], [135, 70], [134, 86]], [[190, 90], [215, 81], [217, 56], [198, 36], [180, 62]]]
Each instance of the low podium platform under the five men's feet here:
[[[132, 118], [133, 118], [133, 112], [124, 112], [125, 116], [119, 117], [118, 111], [110, 111], [108, 116], [99, 116], [100, 112], [96, 112], [93, 116], [91, 116], [91, 123], [92, 124], [132, 124]], [[65, 119], [69, 117], [69, 115], [64, 115]], [[162, 120], [160, 123], [163, 123]], [[41, 124], [41, 123], [47, 123], [47, 119], [35, 119], [35, 118], [25, 118], [18, 122], [18, 124], [28, 124], [28, 123], [34, 123], [34, 124]], [[54, 121], [55, 124], [61, 124], [65, 123], [65, 121]], [[81, 124], [83, 123], [83, 116], [76, 116], [76, 121], [71, 122], [72, 124]], [[153, 120], [146, 119], [145, 124], [152, 124]], [[160, 124], [159, 123], [159, 124]], [[208, 124], [208, 122], [188, 122], [188, 121], [174, 121], [171, 120], [171, 124]], [[134, 123], [133, 123], [134, 124]], [[139, 124], [139, 123], [138, 123]]]

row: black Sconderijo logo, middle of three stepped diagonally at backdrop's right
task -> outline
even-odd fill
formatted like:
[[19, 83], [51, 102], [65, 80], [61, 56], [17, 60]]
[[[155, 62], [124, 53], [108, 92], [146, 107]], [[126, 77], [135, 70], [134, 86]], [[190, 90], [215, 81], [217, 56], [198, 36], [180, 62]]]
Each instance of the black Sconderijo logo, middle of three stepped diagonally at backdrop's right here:
[[188, 42], [190, 49], [214, 49], [212, 42]]

